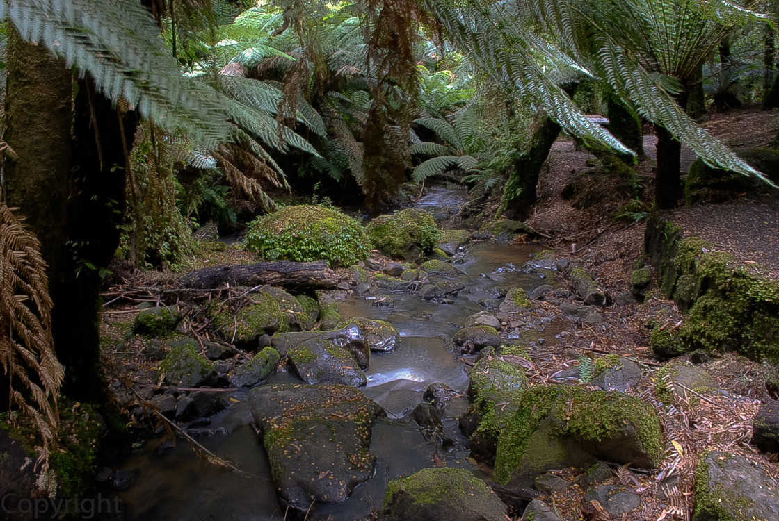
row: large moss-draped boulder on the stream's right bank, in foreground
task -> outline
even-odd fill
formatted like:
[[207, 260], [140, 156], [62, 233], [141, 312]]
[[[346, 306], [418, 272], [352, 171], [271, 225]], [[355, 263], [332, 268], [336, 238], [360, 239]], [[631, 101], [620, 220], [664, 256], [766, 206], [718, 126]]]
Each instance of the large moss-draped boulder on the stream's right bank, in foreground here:
[[660, 421], [649, 404], [622, 393], [538, 386], [520, 394], [498, 439], [495, 481], [530, 486], [547, 470], [594, 460], [655, 467]]

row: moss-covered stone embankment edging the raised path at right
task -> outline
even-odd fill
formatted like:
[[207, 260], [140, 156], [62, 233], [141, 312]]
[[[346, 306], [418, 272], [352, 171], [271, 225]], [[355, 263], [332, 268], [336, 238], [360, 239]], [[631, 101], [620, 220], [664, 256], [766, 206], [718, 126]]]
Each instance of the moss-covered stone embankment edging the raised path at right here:
[[779, 362], [779, 281], [756, 264], [684, 233], [664, 214], [648, 220], [645, 248], [662, 291], [687, 311], [681, 324], [652, 331], [658, 356], [703, 348]]

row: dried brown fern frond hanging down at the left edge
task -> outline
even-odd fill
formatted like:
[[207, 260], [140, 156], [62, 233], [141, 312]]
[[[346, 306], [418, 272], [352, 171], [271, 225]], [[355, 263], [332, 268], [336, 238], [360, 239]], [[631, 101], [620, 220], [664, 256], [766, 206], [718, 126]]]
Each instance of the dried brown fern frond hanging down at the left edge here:
[[0, 362], [9, 376], [9, 404], [41, 432], [46, 459], [57, 429], [62, 365], [51, 337], [51, 297], [41, 243], [23, 217], [0, 202]]

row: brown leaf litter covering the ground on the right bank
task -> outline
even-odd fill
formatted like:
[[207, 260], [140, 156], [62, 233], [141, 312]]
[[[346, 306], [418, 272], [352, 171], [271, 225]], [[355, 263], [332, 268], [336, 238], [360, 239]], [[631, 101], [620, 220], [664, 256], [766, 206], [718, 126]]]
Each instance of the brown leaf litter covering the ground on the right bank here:
[[[714, 114], [703, 127], [735, 149], [766, 147], [777, 135], [779, 114], [776, 110]], [[636, 169], [643, 184], [643, 201], [651, 201], [654, 194], [655, 143], [656, 138], [649, 131], [644, 140], [647, 157]], [[693, 152], [683, 151], [683, 173], [693, 159]], [[558, 258], [565, 257], [585, 267], [599, 285], [612, 295], [619, 295], [629, 292], [634, 264], [642, 262], [646, 219], [614, 219], [625, 213], [624, 205], [631, 199], [629, 187], [619, 177], [588, 176], [593, 164], [594, 156], [578, 151], [572, 140], [561, 138], [555, 142], [539, 180], [538, 203], [526, 222], [543, 234], [545, 247], [555, 250]], [[563, 189], [572, 183], [577, 195], [563, 198]], [[771, 276], [776, 273], [774, 268], [779, 267], [777, 201], [777, 197], [759, 201], [743, 198], [723, 205], [679, 208], [672, 212], [672, 219], [687, 233], [710, 240], [717, 249], [729, 251], [746, 263], [770, 268]], [[664, 299], [657, 291], [656, 278], [648, 295], [643, 304], [605, 308], [603, 323], [583, 326], [567, 335], [558, 349], [566, 348], [563, 352], [568, 355], [560, 357], [558, 367], [576, 365], [576, 360], [566, 358], [587, 351], [615, 353], [643, 363], [643, 379], [631, 393], [654, 405], [661, 416], [667, 444], [661, 469], [653, 474], [633, 475], [639, 483], [634, 483], [633, 489], [640, 492], [642, 508], [626, 519], [692, 519], [696, 463], [706, 450], [740, 453], [767, 474], [779, 477], [777, 455], [760, 453], [749, 444], [756, 411], [763, 399], [770, 398], [766, 380], [774, 368], [767, 362], [753, 362], [727, 353], [702, 365], [717, 381], [718, 393], [703, 399], [693, 393], [677, 393], [675, 404], [663, 407], [653, 396], [662, 364], [650, 349], [650, 330], [658, 313], [663, 313], [671, 326], [683, 315], [675, 302]], [[682, 357], [681, 362], [688, 359], [689, 355]], [[554, 370], [554, 365], [547, 369]], [[576, 484], [575, 475], [562, 472], [561, 476], [572, 486], [544, 499], [556, 506], [562, 519], [582, 519], [583, 490]], [[669, 488], [669, 477], [673, 476], [674, 484]], [[628, 481], [627, 474], [615, 473], [614, 484], [626, 485]]]

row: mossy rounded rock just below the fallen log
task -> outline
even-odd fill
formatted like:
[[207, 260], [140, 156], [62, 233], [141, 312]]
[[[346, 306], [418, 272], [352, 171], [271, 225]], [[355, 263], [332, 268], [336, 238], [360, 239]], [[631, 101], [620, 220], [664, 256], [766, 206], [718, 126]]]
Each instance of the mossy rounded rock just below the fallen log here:
[[250, 293], [245, 305], [233, 313], [227, 306], [213, 303], [209, 314], [213, 327], [225, 341], [238, 348], [255, 349], [263, 334], [302, 329], [303, 307], [294, 296], [280, 288], [263, 286]]

